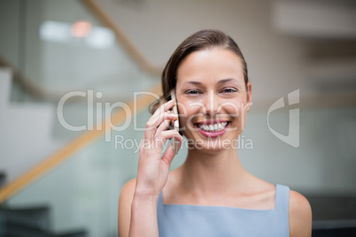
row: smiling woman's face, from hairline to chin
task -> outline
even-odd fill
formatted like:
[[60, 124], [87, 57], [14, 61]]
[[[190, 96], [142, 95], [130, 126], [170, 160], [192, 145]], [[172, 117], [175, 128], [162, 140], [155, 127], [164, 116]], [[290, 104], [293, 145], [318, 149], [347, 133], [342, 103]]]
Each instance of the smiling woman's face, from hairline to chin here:
[[236, 147], [252, 102], [240, 57], [213, 48], [191, 53], [177, 71], [176, 97], [182, 133], [197, 149]]

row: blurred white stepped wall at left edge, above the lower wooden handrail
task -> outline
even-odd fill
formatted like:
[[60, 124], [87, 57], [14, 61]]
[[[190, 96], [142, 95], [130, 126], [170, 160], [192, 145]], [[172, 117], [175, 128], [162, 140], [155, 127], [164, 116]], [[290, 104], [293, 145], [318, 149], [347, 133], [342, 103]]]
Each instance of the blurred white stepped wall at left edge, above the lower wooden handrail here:
[[0, 68], [0, 167], [9, 182], [64, 144], [51, 136], [55, 107], [10, 103], [11, 86], [11, 71]]

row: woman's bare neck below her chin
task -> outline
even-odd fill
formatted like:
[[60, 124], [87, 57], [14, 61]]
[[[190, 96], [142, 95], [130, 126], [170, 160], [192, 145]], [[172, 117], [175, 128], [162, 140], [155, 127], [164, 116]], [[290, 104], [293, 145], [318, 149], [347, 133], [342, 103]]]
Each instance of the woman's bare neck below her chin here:
[[182, 182], [187, 191], [205, 196], [236, 190], [247, 173], [236, 149], [224, 149], [216, 154], [190, 149], [181, 168]]

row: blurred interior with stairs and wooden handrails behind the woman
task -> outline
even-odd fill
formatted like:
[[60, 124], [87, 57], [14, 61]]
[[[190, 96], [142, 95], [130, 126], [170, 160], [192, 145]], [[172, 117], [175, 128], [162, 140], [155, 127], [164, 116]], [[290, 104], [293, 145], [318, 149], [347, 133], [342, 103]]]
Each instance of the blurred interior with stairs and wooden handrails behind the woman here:
[[[118, 235], [153, 100], [135, 92], [159, 94], [170, 55], [204, 28], [231, 35], [247, 61], [245, 169], [306, 195], [313, 236], [354, 233], [356, 2], [0, 0], [0, 236]], [[291, 110], [294, 147], [271, 132], [289, 134]]]

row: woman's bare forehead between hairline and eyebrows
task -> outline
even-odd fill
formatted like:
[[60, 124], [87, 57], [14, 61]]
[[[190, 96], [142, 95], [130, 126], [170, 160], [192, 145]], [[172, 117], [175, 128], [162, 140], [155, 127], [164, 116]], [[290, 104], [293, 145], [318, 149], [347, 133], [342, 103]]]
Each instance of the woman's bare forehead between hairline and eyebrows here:
[[221, 48], [193, 52], [177, 70], [177, 86], [187, 80], [209, 83], [226, 78], [244, 82], [244, 69], [235, 52]]

